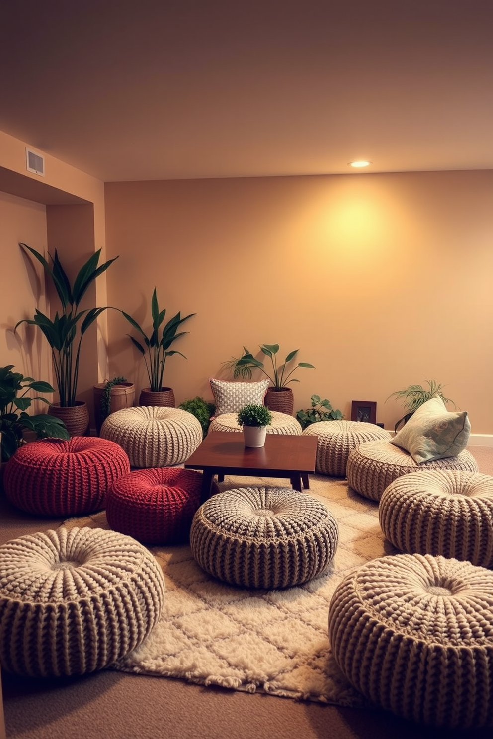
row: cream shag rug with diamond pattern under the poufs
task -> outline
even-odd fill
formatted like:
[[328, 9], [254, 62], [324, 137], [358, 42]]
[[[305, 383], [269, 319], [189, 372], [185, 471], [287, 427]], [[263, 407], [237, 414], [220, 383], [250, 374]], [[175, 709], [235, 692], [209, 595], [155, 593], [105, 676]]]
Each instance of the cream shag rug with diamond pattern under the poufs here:
[[[227, 477], [220, 490], [255, 484], [286, 486], [286, 480]], [[347, 480], [311, 475], [308, 492], [339, 524], [339, 547], [327, 571], [286, 590], [243, 590], [202, 571], [188, 546], [152, 547], [166, 579], [163, 615], [146, 641], [111, 669], [367, 706], [333, 660], [327, 614], [336, 585], [348, 572], [396, 550], [381, 533], [378, 503], [352, 491]], [[64, 525], [108, 528], [104, 512]]]

